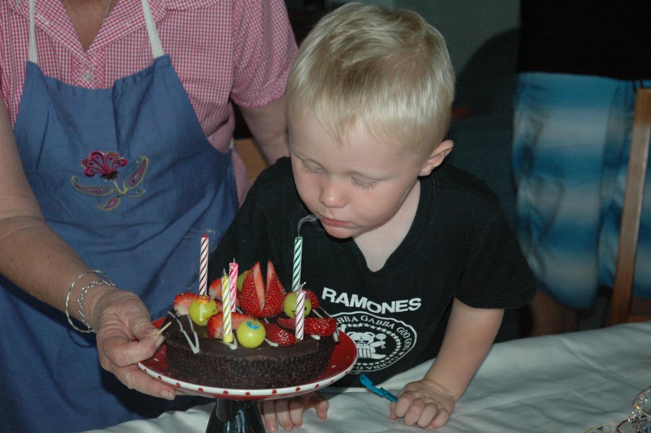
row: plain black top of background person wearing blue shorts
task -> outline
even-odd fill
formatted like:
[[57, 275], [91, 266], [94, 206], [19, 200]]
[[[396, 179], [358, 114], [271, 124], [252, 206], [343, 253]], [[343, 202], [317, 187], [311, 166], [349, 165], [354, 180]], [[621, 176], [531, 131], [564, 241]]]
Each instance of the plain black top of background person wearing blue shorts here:
[[651, 1], [522, 0], [518, 71], [651, 78]]

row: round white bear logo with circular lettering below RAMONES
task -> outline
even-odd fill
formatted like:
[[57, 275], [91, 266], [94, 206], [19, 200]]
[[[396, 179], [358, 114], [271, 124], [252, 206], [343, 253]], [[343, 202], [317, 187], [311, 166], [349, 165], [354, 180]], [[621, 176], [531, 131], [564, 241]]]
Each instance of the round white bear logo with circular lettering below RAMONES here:
[[416, 344], [415, 330], [391, 317], [359, 311], [333, 314], [339, 329], [357, 346], [354, 372], [373, 372], [389, 367], [405, 356]]

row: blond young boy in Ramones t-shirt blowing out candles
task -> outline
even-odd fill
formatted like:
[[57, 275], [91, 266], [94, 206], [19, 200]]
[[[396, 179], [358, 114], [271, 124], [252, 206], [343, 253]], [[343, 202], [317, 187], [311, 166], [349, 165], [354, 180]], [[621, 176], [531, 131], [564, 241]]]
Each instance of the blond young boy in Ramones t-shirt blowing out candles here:
[[[490, 348], [503, 309], [534, 283], [499, 200], [449, 165], [443, 140], [454, 72], [443, 37], [418, 14], [351, 3], [301, 46], [287, 87], [291, 158], [264, 171], [210, 258], [210, 277], [271, 260], [291, 287], [301, 227], [301, 281], [357, 344], [352, 374], [378, 383], [436, 356], [404, 385], [392, 419], [447, 423]], [[505, 161], [507, 163], [507, 161]], [[325, 418], [317, 395], [266, 402], [270, 431]]]

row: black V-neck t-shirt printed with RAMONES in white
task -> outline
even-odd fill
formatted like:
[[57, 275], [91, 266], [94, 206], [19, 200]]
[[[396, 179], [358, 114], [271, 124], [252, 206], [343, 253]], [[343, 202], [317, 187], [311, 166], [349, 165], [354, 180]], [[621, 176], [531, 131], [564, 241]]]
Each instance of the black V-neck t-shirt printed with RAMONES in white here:
[[[453, 297], [471, 307], [514, 308], [535, 292], [499, 199], [484, 182], [447, 164], [420, 182], [411, 228], [377, 272], [352, 239], [332, 238], [318, 221], [301, 227], [301, 281], [357, 344], [353, 372], [376, 382], [436, 356]], [[307, 215], [283, 158], [249, 191], [210, 257], [210, 279], [233, 258], [240, 271], [256, 261], [266, 270], [271, 260], [291, 290], [294, 238]], [[359, 385], [357, 375], [349, 376], [338, 384]]]

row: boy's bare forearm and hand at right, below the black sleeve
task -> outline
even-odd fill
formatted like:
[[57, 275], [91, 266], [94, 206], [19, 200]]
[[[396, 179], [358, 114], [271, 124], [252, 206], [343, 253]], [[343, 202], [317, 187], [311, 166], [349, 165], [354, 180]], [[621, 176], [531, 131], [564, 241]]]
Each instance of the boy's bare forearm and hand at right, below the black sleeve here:
[[391, 418], [404, 417], [407, 425], [421, 427], [445, 425], [493, 344], [503, 315], [503, 309], [473, 308], [454, 298], [436, 360], [422, 380], [405, 385], [391, 404]]

